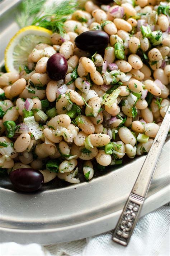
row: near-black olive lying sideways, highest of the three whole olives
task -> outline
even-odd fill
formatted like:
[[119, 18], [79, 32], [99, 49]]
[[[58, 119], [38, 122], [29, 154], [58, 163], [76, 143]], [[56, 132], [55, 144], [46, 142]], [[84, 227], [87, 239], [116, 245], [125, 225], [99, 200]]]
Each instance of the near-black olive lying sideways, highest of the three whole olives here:
[[109, 36], [104, 31], [86, 31], [75, 38], [77, 48], [95, 52], [107, 47]]

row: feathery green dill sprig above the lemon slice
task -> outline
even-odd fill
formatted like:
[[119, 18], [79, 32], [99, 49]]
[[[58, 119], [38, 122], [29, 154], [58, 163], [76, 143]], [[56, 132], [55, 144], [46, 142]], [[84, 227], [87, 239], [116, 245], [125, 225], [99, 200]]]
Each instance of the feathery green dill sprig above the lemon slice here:
[[17, 16], [19, 26], [39, 26], [63, 35], [65, 33], [63, 23], [68, 15], [75, 12], [78, 4], [75, 0], [65, 0], [61, 4], [44, 6], [45, 2], [46, 0], [24, 0], [20, 7], [21, 13]]

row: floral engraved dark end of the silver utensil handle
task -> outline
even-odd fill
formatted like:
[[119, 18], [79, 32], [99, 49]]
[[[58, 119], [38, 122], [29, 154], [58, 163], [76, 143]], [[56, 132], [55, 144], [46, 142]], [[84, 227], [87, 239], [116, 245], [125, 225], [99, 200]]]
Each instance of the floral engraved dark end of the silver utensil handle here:
[[125, 246], [128, 244], [133, 228], [136, 225], [136, 217], [141, 211], [143, 201], [144, 198], [131, 193], [118, 225], [115, 228], [113, 241]]

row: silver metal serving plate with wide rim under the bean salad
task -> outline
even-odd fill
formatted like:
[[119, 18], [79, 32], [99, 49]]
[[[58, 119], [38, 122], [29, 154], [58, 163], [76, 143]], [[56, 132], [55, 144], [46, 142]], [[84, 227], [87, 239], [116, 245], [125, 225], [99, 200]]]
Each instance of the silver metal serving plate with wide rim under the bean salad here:
[[[1, 50], [18, 27], [15, 0], [0, 4]], [[7, 8], [5, 4], [8, 5]], [[1, 62], [3, 62], [3, 51]], [[169, 201], [169, 148], [167, 140], [158, 162], [141, 216]], [[115, 227], [146, 156], [114, 167], [89, 183], [61, 187], [53, 180], [36, 193], [18, 193], [8, 178], [0, 181], [1, 242], [50, 244], [72, 241]]]

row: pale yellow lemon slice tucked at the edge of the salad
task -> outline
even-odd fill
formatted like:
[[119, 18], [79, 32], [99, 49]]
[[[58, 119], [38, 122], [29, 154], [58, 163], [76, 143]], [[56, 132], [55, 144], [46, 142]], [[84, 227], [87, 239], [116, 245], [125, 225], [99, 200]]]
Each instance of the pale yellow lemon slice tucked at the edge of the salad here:
[[5, 49], [7, 72], [19, 72], [28, 63], [28, 56], [38, 43], [50, 44], [52, 31], [37, 26], [28, 26], [13, 36]]

